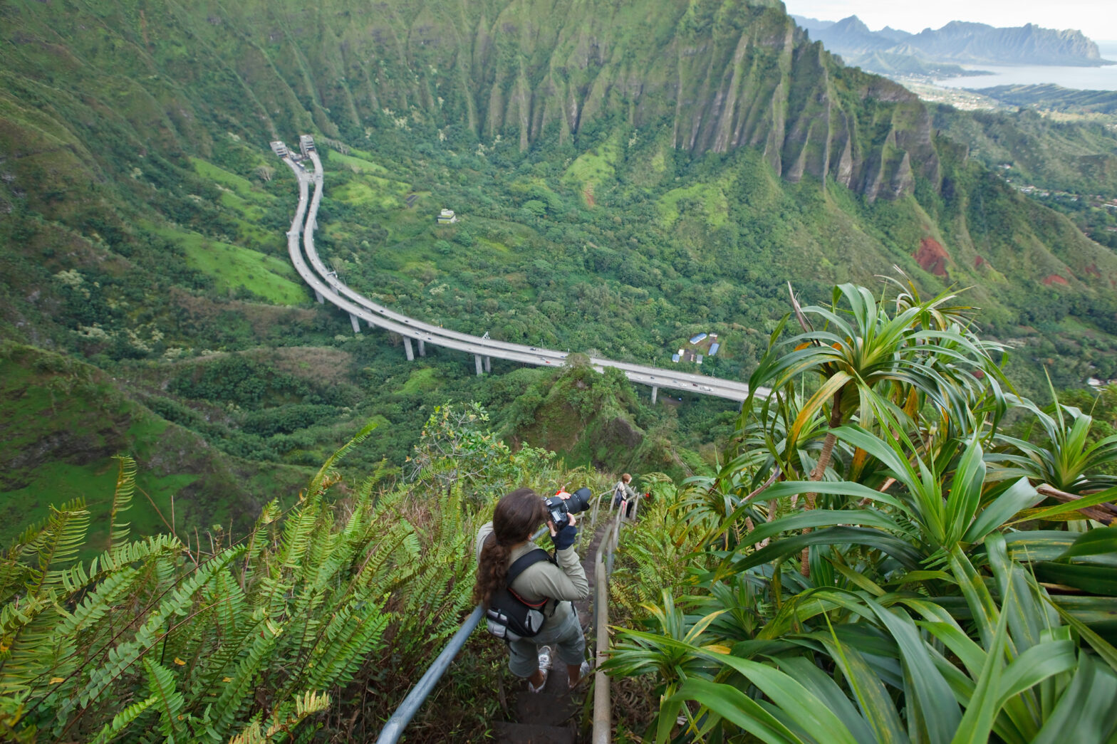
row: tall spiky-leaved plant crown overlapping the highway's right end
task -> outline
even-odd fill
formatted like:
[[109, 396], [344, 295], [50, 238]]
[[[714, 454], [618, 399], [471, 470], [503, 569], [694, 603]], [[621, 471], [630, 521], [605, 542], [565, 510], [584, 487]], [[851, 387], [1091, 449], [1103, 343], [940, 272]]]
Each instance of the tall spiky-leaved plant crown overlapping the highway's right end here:
[[[1000, 397], [1001, 375], [992, 352], [1001, 347], [978, 340], [964, 325], [961, 308], [949, 305], [953, 294], [922, 301], [914, 289], [904, 292], [890, 315], [884, 302], [852, 284], [834, 287], [829, 306], [803, 307], [790, 285], [789, 290], [793, 312], [773, 333], [750, 388], [779, 390], [803, 376], [817, 378], [818, 388], [785, 433], [790, 441], [801, 441], [820, 414], [827, 419], [810, 480], [825, 476], [838, 441], [834, 430], [844, 422], [857, 420], [867, 430], [878, 430], [876, 422], [884, 417], [915, 428], [916, 417], [929, 408], [938, 428], [972, 429], [975, 397], [991, 390]], [[779, 342], [792, 315], [802, 333]], [[753, 400], [746, 401], [746, 407], [753, 406]], [[767, 406], [756, 402], [760, 418], [768, 418]], [[855, 459], [863, 457], [855, 452]], [[806, 509], [814, 508], [815, 498], [814, 492], [804, 495]], [[805, 574], [805, 553], [802, 567]]]

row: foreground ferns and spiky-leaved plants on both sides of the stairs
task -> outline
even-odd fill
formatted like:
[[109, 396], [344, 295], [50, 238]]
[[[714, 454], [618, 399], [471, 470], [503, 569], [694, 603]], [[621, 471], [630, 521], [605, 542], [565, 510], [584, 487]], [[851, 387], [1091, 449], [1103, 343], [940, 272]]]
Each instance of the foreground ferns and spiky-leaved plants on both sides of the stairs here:
[[[1006, 392], [974, 321], [901, 282], [790, 297], [794, 332], [751, 376], [771, 394], [746, 401], [731, 457], [642, 477], [610, 583], [617, 741], [1113, 740], [1117, 436]], [[555, 387], [601, 399], [612, 381], [590, 374], [575, 360]], [[468, 610], [495, 500], [610, 496], [602, 474], [513, 451], [476, 403], [426, 419], [405, 483], [346, 479], [378, 430], [239, 540], [133, 535], [131, 458], [93, 560], [86, 505], [52, 507], [0, 561], [0, 734], [371, 741]], [[479, 741], [507, 717], [504, 652], [475, 638], [409, 741]]]

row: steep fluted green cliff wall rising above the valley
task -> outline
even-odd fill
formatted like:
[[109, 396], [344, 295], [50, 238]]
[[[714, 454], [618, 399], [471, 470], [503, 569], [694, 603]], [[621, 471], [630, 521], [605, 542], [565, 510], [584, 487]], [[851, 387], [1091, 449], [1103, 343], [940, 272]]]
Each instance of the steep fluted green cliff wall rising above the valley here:
[[34, 80], [61, 65], [54, 85], [90, 108], [112, 104], [90, 101], [105, 78], [127, 78], [113, 87], [130, 124], [168, 146], [206, 146], [199, 120], [264, 140], [312, 122], [363, 135], [386, 115], [526, 149], [623, 117], [669, 123], [696, 155], [757, 147], [790, 180], [830, 177], [870, 199], [910, 191], [914, 168], [938, 178], [918, 101], [841, 67], [780, 3], [60, 4], [8, 7], [4, 68]]

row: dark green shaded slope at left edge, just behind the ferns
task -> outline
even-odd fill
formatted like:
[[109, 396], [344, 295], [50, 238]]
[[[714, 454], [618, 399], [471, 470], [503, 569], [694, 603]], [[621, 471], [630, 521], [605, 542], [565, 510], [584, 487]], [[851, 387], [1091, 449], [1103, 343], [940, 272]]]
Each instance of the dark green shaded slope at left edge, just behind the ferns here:
[[[116, 483], [114, 455], [140, 464], [128, 519], [139, 534], [164, 531], [172, 509], [180, 536], [193, 527], [238, 530], [271, 498], [294, 498], [313, 471], [223, 456], [121, 392], [87, 364], [26, 346], [0, 349], [0, 542], [47, 515], [50, 504], [84, 498], [90, 541], [107, 536]], [[172, 507], [173, 500], [173, 507]], [[162, 513], [162, 517], [160, 516]], [[93, 550], [93, 549], [90, 549]]]

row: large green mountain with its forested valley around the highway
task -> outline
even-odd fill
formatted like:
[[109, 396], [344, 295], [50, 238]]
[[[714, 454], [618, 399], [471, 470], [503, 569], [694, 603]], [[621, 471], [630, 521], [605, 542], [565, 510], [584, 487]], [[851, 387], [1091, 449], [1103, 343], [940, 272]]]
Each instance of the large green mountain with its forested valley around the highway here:
[[[742, 376], [787, 282], [811, 296], [898, 267], [925, 293], [970, 287], [1025, 389], [1041, 364], [1060, 384], [1117, 375], [1111, 251], [780, 3], [13, 0], [0, 15], [0, 332], [127, 381], [222, 456], [321, 461], [379, 416], [393, 435], [370, 461], [398, 464], [417, 410], [510, 407], [537, 378], [478, 380], [449, 352], [407, 366], [398, 340], [353, 338], [313, 305], [286, 260], [294, 179], [267, 150], [300, 132], [327, 156], [323, 255], [450, 327], [663, 365], [715, 332], [701, 371]], [[436, 227], [442, 207], [462, 221]], [[701, 416], [653, 438], [697, 449], [722, 410], [684, 402]]]

